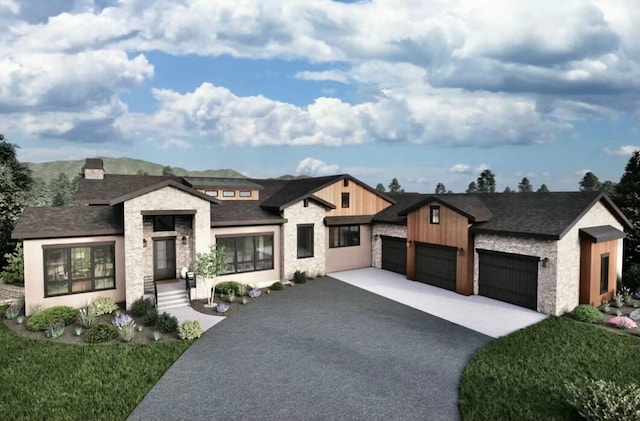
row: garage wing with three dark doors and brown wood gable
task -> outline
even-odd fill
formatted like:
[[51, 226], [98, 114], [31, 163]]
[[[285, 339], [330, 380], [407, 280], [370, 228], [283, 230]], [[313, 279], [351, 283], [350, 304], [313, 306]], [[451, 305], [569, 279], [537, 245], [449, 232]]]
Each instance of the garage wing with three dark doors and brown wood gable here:
[[603, 193], [390, 196], [374, 267], [546, 314], [613, 298], [630, 223]]

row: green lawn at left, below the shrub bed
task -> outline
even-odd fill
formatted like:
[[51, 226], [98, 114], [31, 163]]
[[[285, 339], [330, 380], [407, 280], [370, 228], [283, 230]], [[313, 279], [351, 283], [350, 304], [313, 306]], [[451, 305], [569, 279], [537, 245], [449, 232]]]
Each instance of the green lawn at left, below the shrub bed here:
[[0, 414], [124, 420], [190, 344], [62, 344], [20, 336], [0, 322]]

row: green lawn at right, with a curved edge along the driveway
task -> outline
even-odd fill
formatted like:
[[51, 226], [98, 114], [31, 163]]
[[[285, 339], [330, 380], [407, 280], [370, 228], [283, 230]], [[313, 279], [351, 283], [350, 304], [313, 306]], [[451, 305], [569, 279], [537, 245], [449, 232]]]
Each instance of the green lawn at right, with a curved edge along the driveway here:
[[640, 379], [640, 338], [566, 318], [499, 338], [465, 368], [460, 412], [472, 420], [581, 420], [564, 383], [584, 377], [620, 384]]

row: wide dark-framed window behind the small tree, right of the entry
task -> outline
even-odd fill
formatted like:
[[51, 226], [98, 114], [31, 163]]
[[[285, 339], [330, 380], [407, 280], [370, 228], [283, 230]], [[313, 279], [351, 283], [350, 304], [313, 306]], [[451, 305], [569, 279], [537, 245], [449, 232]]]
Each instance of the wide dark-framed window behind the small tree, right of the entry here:
[[227, 252], [227, 273], [273, 269], [273, 234], [216, 237]]

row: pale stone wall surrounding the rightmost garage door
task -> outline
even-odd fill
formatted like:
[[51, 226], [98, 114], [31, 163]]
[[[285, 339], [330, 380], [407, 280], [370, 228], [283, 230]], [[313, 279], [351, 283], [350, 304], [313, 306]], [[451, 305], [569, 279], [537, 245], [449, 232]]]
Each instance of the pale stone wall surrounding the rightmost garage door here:
[[[538, 304], [537, 310], [545, 314], [560, 314], [557, 305], [557, 242], [552, 240], [538, 240], [533, 238], [503, 237], [499, 235], [478, 234], [475, 237], [475, 248], [485, 250], [495, 250], [505, 253], [524, 254], [537, 256], [541, 259], [547, 258], [547, 266], [538, 265]], [[473, 293], [478, 294], [479, 276], [478, 253], [475, 252], [473, 264]], [[580, 258], [576, 261], [580, 266]], [[578, 280], [579, 285], [579, 280]]]

